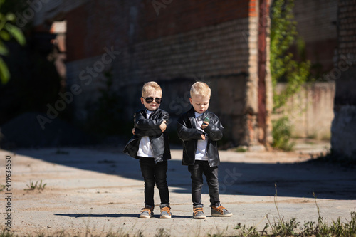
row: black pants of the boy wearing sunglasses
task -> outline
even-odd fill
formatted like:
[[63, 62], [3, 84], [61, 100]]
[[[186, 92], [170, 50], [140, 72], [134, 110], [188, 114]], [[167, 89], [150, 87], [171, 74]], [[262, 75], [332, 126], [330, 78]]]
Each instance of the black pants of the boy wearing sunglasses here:
[[145, 204], [155, 206], [155, 184], [159, 190], [161, 204], [169, 204], [167, 185], [167, 161], [155, 163], [155, 159], [140, 157], [140, 167], [145, 181]]

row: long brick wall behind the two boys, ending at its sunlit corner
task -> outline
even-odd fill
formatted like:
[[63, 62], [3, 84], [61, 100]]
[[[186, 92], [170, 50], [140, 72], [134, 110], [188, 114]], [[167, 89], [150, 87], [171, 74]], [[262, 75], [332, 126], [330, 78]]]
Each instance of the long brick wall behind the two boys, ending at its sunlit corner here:
[[143, 83], [157, 80], [164, 90], [162, 107], [174, 120], [190, 106], [187, 88], [204, 80], [211, 85], [211, 110], [221, 116], [226, 137], [248, 144], [246, 80], [257, 70], [258, 1], [157, 1], [169, 2], [158, 14], [152, 0], [90, 0], [68, 13], [68, 84], [83, 88], [75, 111], [85, 118], [85, 106], [98, 98], [103, 77], [88, 68], [100, 63], [105, 47], [113, 47], [121, 52], [108, 65], [113, 87], [129, 98], [122, 116], [132, 119], [141, 106]]

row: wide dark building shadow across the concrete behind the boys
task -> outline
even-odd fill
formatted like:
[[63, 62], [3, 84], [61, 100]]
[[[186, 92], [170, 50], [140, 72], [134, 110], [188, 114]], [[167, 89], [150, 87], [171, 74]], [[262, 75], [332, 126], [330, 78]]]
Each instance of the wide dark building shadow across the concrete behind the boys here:
[[[46, 162], [142, 180], [137, 159], [119, 152], [95, 149], [21, 149], [23, 154]], [[173, 192], [190, 193], [190, 174], [180, 160], [170, 160], [167, 181]], [[293, 164], [221, 162], [220, 194], [278, 196], [318, 199], [356, 199], [356, 172], [352, 167], [323, 162]], [[143, 186], [143, 181], [142, 181]], [[204, 184], [203, 193], [208, 194]]]

